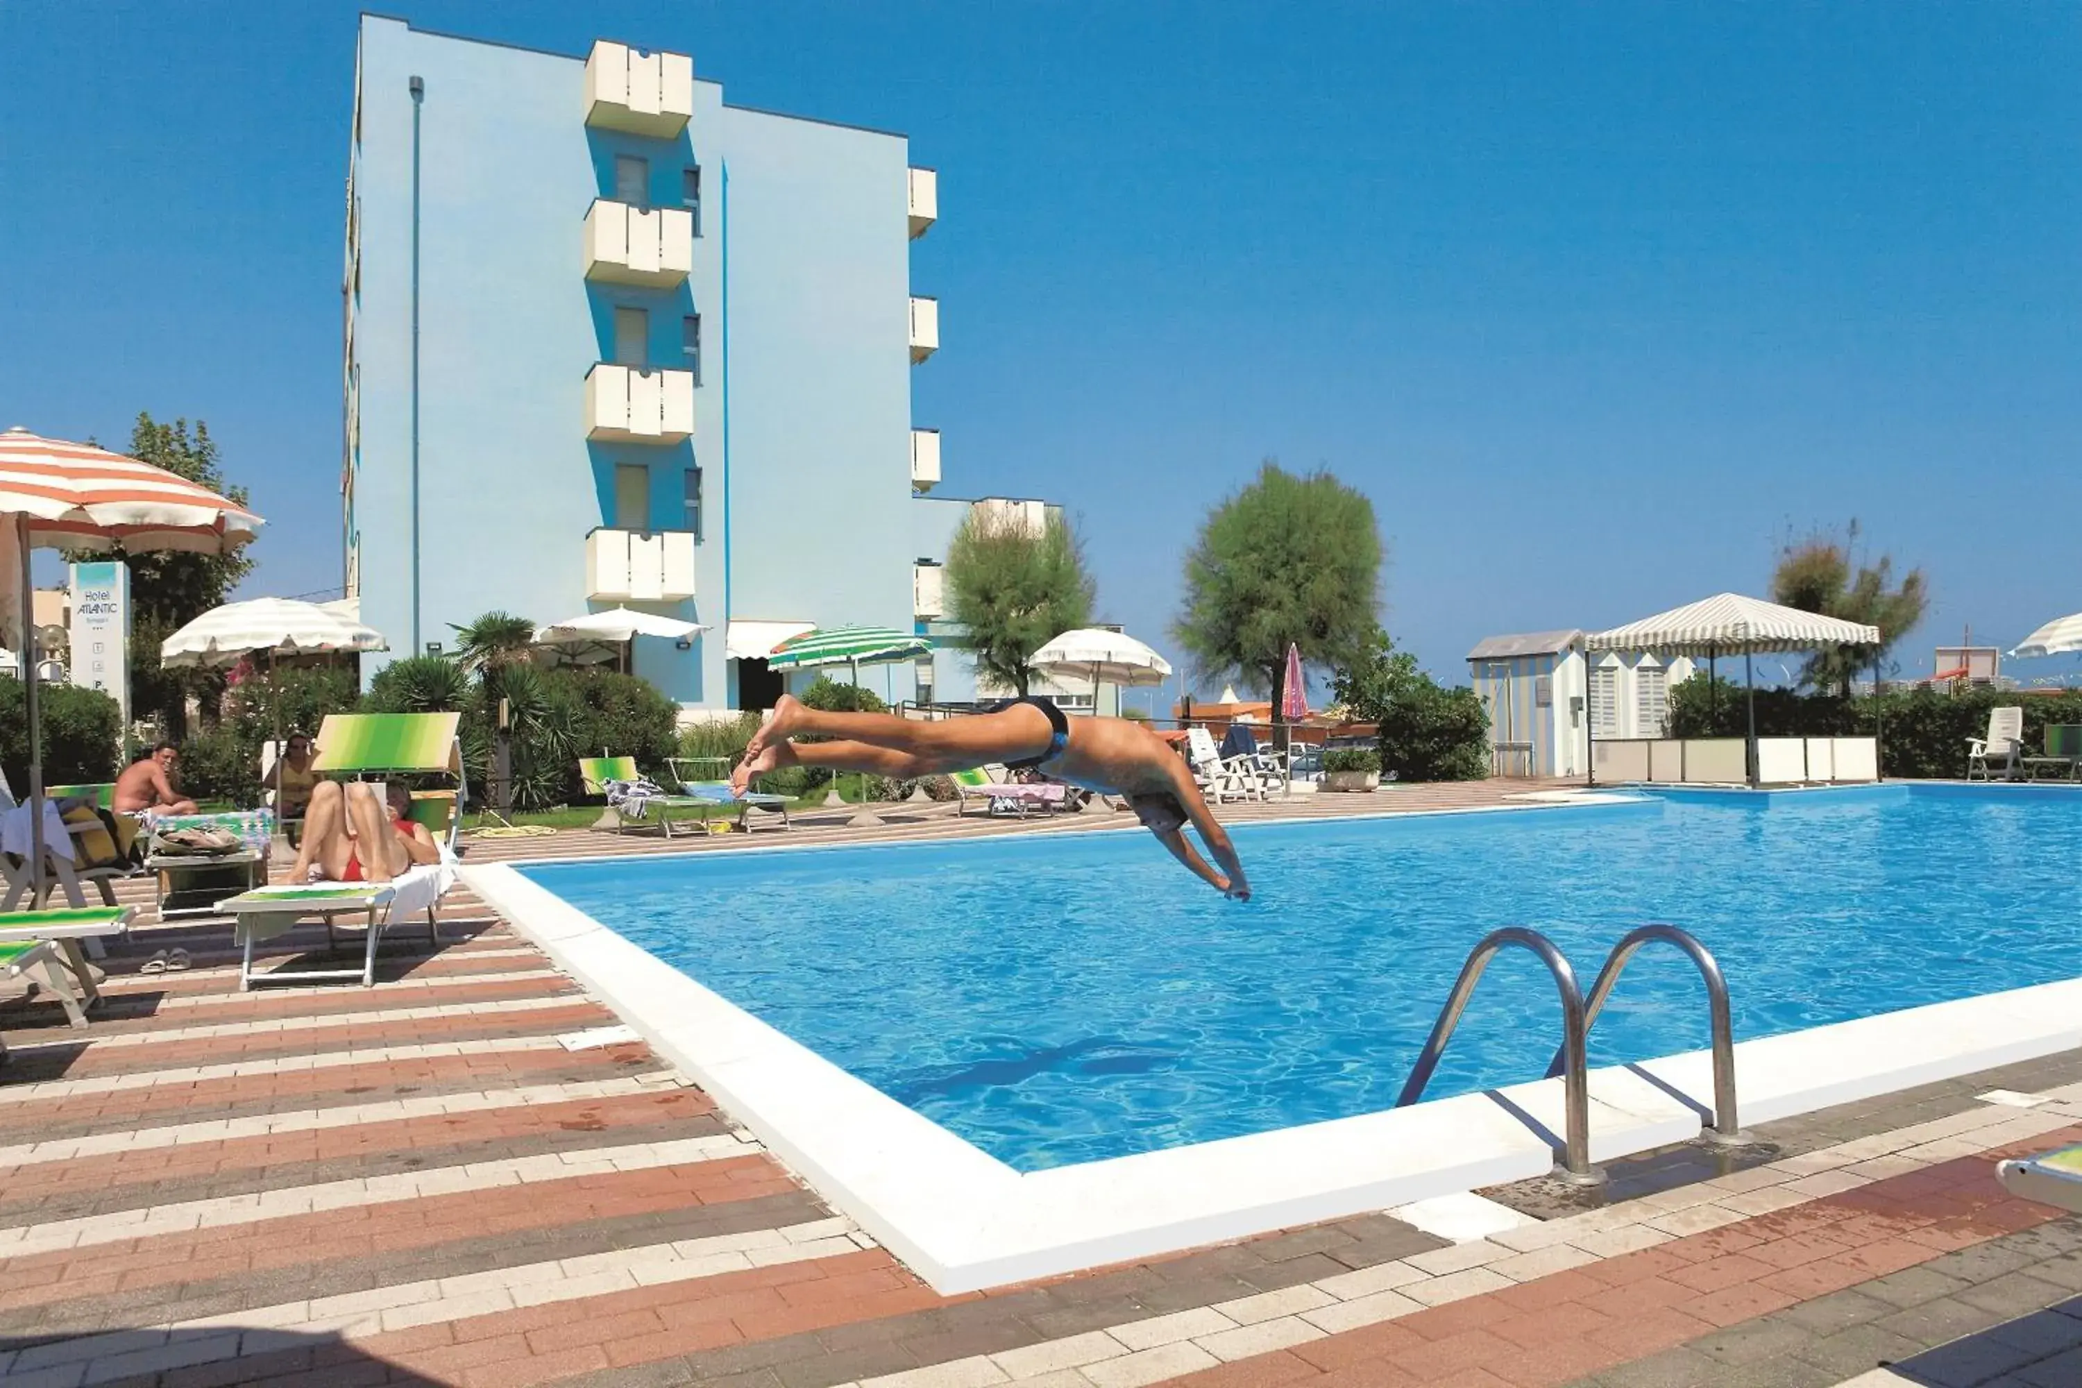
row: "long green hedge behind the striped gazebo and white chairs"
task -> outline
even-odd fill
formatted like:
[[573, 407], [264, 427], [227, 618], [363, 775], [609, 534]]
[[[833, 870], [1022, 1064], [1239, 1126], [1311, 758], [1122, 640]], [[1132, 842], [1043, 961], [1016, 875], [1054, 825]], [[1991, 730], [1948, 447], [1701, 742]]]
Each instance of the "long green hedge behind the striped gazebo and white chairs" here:
[[[2082, 724], [2082, 689], [2022, 693], [2015, 689], [1888, 689], [1872, 697], [1803, 695], [1791, 689], [1757, 691], [1757, 737], [1880, 737], [1880, 774], [1903, 780], [1965, 774], [1965, 743], [1988, 735], [1988, 710], [2024, 708], [2024, 747], [2047, 745], [2047, 724]], [[1670, 691], [1672, 737], [1743, 737], [1743, 687], [1705, 676]]]

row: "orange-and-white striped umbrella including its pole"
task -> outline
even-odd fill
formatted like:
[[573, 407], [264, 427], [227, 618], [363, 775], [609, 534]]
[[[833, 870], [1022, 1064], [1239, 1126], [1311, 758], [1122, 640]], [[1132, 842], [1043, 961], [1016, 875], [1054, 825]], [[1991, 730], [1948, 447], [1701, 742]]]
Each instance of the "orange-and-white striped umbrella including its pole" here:
[[[29, 551], [106, 549], [127, 554], [183, 549], [227, 554], [254, 537], [260, 516], [185, 477], [85, 443], [46, 439], [27, 429], [0, 433], [0, 526], [12, 531], [21, 581], [19, 643], [23, 668], [35, 666], [35, 599]], [[0, 633], [4, 639], [6, 633]], [[23, 683], [29, 722], [29, 893], [44, 893], [44, 753], [37, 680]]]

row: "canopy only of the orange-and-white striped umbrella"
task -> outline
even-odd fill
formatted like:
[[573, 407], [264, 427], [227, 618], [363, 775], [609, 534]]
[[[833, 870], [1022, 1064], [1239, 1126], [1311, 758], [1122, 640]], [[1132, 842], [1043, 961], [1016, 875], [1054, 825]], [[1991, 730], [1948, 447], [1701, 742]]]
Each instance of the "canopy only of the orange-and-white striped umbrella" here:
[[0, 524], [29, 520], [31, 547], [223, 554], [260, 516], [167, 468], [27, 429], [0, 433]]

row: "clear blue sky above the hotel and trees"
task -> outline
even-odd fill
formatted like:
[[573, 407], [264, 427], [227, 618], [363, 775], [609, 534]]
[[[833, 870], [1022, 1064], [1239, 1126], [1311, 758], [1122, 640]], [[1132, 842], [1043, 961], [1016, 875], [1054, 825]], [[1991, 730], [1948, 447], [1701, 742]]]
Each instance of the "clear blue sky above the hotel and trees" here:
[[[1455, 678], [1487, 633], [1757, 593], [1849, 516], [1936, 591], [1907, 672], [2082, 608], [2074, 4], [391, 12], [908, 131], [945, 489], [1066, 502], [1160, 647], [1266, 456], [1372, 495], [1389, 628]], [[208, 418], [256, 593], [339, 581], [354, 25], [0, 0], [0, 425]]]

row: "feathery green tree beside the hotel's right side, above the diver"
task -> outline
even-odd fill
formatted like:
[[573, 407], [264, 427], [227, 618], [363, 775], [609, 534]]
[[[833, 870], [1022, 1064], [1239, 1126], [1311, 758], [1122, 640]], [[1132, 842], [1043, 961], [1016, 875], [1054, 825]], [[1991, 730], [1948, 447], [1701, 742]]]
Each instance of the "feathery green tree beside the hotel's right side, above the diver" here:
[[976, 676], [1026, 693], [1029, 658], [1066, 631], [1091, 624], [1097, 585], [1060, 512], [1039, 531], [1020, 516], [970, 508], [947, 545], [947, 620]]

